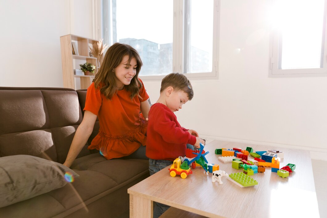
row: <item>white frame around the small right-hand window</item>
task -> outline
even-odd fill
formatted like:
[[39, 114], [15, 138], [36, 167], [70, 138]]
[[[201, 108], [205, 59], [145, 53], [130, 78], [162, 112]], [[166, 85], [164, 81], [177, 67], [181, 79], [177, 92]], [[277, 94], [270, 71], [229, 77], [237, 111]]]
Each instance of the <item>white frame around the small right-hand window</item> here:
[[324, 6], [324, 21], [323, 21], [323, 38], [321, 52], [322, 60], [320, 68], [307, 68], [307, 69], [280, 69], [281, 64], [281, 32], [277, 29], [270, 31], [270, 45], [269, 45], [269, 77], [322, 77], [327, 76], [327, 0]]

